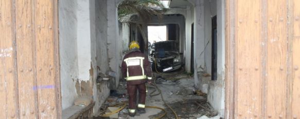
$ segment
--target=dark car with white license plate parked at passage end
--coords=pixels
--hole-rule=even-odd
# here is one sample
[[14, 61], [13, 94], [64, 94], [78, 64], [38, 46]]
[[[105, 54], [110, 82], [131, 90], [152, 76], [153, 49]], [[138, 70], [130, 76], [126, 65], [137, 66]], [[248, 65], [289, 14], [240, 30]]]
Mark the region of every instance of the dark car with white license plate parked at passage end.
[[[177, 41], [161, 41], [154, 43], [152, 56], [152, 70], [158, 72], [171, 72], [182, 66], [179, 43]], [[156, 66], [155, 66], [156, 65]]]

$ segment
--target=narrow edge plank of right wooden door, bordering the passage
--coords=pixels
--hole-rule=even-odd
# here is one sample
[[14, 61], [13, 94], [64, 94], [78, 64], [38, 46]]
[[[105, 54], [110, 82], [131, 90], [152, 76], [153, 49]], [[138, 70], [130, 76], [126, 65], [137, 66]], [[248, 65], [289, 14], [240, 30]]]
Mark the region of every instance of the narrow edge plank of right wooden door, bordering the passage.
[[235, 0], [225, 0], [225, 118], [235, 118]]

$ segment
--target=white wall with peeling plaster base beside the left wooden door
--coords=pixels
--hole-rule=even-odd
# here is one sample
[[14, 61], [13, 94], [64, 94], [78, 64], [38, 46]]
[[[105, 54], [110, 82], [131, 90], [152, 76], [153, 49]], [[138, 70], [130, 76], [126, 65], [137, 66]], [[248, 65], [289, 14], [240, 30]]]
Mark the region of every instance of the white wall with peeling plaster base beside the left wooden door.
[[91, 25], [95, 21], [90, 18], [94, 19], [90, 2], [59, 1], [62, 109], [74, 105], [79, 96], [93, 96], [95, 30]]

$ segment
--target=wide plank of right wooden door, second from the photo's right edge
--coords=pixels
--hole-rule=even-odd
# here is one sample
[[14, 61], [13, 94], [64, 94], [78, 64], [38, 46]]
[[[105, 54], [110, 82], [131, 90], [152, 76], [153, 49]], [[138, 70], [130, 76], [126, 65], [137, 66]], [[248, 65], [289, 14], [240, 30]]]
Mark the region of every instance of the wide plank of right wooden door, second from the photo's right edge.
[[287, 1], [267, 1], [266, 114], [264, 118], [286, 117], [287, 94]]

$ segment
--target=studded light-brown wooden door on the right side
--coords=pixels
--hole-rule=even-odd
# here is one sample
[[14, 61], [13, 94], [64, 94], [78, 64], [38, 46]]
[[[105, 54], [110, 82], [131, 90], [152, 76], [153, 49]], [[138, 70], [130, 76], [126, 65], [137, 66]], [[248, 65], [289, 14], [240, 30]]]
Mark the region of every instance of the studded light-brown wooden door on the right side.
[[300, 118], [300, 1], [226, 1], [226, 118]]

